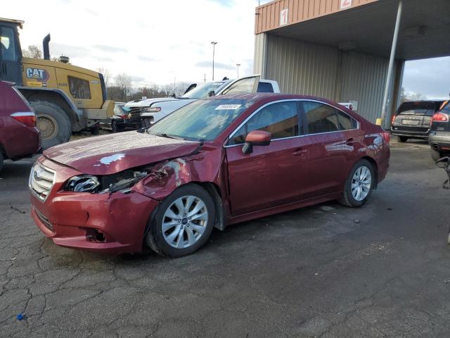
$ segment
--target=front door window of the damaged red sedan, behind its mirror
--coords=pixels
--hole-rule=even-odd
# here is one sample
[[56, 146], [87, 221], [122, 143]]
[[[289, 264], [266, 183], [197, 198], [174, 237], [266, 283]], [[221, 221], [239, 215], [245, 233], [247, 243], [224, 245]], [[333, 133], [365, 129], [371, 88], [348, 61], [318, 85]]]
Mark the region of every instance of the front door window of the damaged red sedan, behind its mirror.
[[233, 134], [231, 144], [243, 144], [252, 130], [264, 130], [272, 134], [272, 139], [294, 137], [299, 134], [297, 101], [269, 104], [258, 111], [243, 127]]

